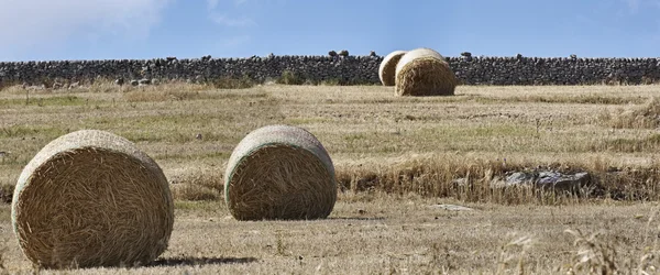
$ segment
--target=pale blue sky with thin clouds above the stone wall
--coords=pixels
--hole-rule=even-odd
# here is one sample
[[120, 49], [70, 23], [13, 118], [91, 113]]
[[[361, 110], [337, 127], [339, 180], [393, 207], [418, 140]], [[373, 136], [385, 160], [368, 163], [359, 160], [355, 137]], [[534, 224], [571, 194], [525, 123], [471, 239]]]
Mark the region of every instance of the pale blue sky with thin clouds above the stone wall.
[[324, 55], [660, 57], [660, 0], [0, 0], [0, 62]]

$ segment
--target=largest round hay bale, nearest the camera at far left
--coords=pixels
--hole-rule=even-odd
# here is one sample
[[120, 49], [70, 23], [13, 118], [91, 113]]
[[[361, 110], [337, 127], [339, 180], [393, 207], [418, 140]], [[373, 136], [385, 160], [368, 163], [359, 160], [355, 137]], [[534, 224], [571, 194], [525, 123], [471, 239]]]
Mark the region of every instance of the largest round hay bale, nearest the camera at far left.
[[167, 248], [174, 223], [161, 167], [98, 130], [45, 145], [21, 173], [11, 211], [21, 250], [45, 268], [147, 264]]

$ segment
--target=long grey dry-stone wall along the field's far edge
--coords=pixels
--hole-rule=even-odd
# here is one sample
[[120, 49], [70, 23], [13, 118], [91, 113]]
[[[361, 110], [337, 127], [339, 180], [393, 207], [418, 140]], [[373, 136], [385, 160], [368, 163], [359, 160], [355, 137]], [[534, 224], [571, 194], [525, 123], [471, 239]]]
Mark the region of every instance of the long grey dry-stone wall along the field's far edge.
[[[283, 72], [312, 81], [378, 84], [381, 56], [268, 56], [250, 58], [123, 59], [0, 63], [2, 84], [41, 85], [58, 79], [179, 79], [218, 77], [276, 79]], [[660, 80], [660, 58], [447, 57], [468, 85], [591, 85], [610, 81], [649, 84]]]

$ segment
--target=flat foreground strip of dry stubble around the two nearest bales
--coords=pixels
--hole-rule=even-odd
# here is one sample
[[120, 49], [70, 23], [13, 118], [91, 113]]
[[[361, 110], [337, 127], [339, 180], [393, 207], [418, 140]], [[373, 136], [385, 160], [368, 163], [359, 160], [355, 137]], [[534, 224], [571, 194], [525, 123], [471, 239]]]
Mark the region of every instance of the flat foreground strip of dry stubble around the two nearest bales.
[[[657, 204], [438, 204], [455, 201], [348, 193], [327, 220], [242, 222], [223, 204], [179, 202], [169, 249], [151, 266], [66, 274], [653, 274], [660, 264]], [[32, 270], [13, 242], [3, 261]]]

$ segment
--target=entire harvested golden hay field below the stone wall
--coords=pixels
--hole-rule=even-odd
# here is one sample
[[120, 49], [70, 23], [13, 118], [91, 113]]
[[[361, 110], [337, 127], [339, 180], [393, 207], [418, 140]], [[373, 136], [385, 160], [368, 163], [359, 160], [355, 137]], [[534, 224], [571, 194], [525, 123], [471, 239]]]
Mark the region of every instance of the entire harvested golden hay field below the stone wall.
[[[31, 92], [28, 103], [10, 88], [0, 91], [0, 184], [15, 185], [57, 136], [99, 129], [133, 141], [185, 189], [156, 261], [68, 274], [652, 274], [658, 87], [459, 86], [453, 97], [397, 97], [375, 86], [107, 85]], [[221, 180], [231, 153], [272, 124], [309, 130], [332, 158], [338, 197], [327, 219], [231, 216]], [[597, 185], [578, 194], [491, 189], [541, 168], [585, 172]], [[34, 272], [9, 230], [9, 205], [0, 205], [0, 228], [2, 267]]]

